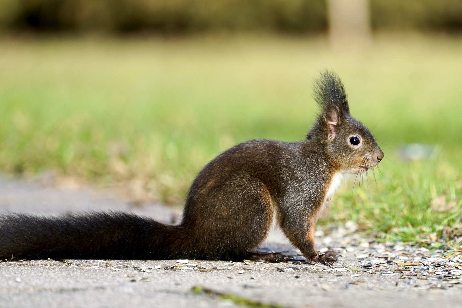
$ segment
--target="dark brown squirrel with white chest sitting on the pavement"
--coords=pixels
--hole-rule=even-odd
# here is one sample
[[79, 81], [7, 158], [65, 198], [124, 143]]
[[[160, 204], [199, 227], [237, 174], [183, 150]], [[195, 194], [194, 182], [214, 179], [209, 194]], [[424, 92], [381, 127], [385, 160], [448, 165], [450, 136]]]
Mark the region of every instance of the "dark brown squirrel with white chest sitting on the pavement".
[[165, 225], [123, 212], [47, 217], [0, 217], [0, 259], [205, 259], [286, 262], [258, 254], [273, 218], [310, 261], [319, 254], [314, 231], [320, 211], [344, 173], [377, 166], [383, 152], [371, 132], [350, 115], [334, 72], [314, 82], [321, 112], [306, 140], [251, 140], [221, 153], [195, 178], [182, 223]]

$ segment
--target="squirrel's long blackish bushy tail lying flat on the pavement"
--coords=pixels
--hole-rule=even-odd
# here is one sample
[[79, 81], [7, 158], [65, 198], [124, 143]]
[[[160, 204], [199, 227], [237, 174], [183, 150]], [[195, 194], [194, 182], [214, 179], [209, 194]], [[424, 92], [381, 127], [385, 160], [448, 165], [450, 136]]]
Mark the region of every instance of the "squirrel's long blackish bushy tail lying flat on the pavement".
[[138, 259], [170, 257], [180, 227], [122, 212], [60, 217], [0, 217], [0, 259]]

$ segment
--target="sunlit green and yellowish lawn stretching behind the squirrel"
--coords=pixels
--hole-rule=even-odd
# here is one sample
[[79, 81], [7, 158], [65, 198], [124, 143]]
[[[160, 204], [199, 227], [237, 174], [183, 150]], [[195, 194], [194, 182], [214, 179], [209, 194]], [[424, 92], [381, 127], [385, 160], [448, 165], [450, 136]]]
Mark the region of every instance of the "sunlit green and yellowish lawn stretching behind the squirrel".
[[[414, 242], [460, 224], [458, 36], [381, 35], [360, 52], [333, 50], [323, 37], [4, 36], [0, 169], [54, 170], [182, 203], [220, 151], [253, 138], [303, 139], [316, 113], [311, 82], [323, 68], [340, 74], [352, 114], [373, 128], [387, 159], [360, 191], [359, 181], [342, 187], [321, 223], [358, 221], [384, 241]], [[441, 154], [400, 160], [395, 150], [414, 142]], [[456, 206], [433, 211], [443, 194]]]

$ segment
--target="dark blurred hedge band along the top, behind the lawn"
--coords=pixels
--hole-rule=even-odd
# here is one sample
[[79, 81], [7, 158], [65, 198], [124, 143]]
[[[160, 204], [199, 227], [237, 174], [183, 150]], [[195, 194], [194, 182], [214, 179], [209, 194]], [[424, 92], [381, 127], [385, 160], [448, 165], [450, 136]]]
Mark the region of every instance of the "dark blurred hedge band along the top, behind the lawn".
[[[326, 0], [0, 0], [12, 30], [327, 29]], [[371, 0], [373, 29], [461, 30], [462, 0]]]

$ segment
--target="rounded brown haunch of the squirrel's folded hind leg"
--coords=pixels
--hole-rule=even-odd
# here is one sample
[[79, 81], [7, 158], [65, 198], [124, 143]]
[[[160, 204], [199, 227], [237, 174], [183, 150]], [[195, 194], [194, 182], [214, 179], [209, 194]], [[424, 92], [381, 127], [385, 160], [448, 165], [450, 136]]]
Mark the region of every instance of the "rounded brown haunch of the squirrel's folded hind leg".
[[245, 174], [214, 187], [213, 194], [197, 188], [185, 211], [185, 256], [239, 262], [265, 240], [274, 214], [267, 187]]

